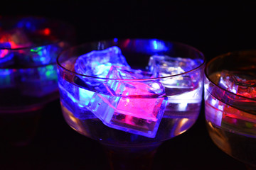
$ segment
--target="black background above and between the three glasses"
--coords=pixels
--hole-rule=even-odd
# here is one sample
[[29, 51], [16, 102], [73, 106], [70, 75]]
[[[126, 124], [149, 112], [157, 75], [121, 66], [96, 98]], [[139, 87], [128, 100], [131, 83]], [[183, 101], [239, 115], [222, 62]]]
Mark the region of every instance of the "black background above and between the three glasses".
[[[207, 60], [256, 47], [256, 1], [1, 1], [0, 6], [1, 16], [44, 16], [70, 23], [77, 44], [159, 38], [196, 47]], [[203, 116], [202, 109], [190, 130], [159, 147], [154, 169], [245, 169], [213, 145]], [[65, 123], [58, 101], [45, 108], [31, 145], [1, 144], [0, 149], [0, 169], [108, 169], [102, 147]]]

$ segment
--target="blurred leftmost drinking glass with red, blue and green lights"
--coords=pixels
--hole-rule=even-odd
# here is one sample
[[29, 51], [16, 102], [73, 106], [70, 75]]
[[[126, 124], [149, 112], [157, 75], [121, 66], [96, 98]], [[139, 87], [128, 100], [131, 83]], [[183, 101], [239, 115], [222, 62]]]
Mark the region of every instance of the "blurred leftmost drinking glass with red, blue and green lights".
[[47, 103], [56, 100], [56, 58], [73, 42], [72, 26], [34, 16], [0, 18], [0, 134], [28, 145]]

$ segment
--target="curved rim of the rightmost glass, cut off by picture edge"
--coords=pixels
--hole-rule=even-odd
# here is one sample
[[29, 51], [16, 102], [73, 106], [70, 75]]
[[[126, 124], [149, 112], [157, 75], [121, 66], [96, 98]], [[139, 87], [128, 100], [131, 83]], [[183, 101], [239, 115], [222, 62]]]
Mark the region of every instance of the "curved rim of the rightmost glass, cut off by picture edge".
[[217, 87], [218, 89], [221, 89], [221, 90], [225, 91], [225, 93], [227, 93], [227, 94], [232, 94], [232, 95], [238, 96], [238, 97], [240, 97], [240, 98], [245, 98], [245, 99], [250, 100], [250, 101], [256, 101], [256, 98], [248, 98], [248, 97], [246, 97], [246, 96], [241, 96], [241, 95], [239, 95], [239, 94], [235, 94], [235, 93], [233, 93], [233, 92], [231, 92], [231, 91], [228, 91], [228, 90], [226, 90], [226, 89], [223, 89], [222, 87], [218, 86], [218, 84], [215, 84], [215, 83], [209, 78], [209, 76], [208, 76], [208, 74], [207, 74], [207, 68], [209, 67], [209, 65], [212, 64], [215, 60], [218, 60], [220, 57], [230, 56], [230, 55], [232, 55], [232, 54], [234, 54], [234, 53], [236, 53], [236, 52], [253, 52], [253, 51], [256, 52], [256, 50], [233, 51], [233, 52], [226, 52], [226, 53], [224, 53], [224, 54], [222, 54], [222, 55], [218, 55], [218, 56], [216, 56], [216, 57], [213, 57], [213, 59], [211, 59], [211, 60], [209, 60], [208, 62], [206, 62], [206, 67], [205, 67], [205, 69], [204, 69], [204, 74], [205, 74], [205, 76], [206, 76], [206, 79], [208, 79], [208, 81], [210, 81], [210, 83], [213, 84], [213, 86]]

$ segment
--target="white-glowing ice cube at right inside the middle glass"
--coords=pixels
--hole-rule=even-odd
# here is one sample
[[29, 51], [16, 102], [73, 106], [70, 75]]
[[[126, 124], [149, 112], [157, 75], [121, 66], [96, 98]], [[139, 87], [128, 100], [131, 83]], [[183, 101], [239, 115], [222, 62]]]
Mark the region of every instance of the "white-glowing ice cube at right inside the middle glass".
[[188, 71], [195, 69], [202, 63], [203, 60], [166, 55], [150, 57], [148, 69], [153, 77], [165, 77], [161, 78], [161, 84], [165, 88], [166, 96], [168, 96], [169, 107], [175, 107], [178, 111], [186, 111], [188, 103], [201, 102], [200, 94], [202, 94], [201, 86], [203, 84], [198, 79], [202, 73], [199, 70]]

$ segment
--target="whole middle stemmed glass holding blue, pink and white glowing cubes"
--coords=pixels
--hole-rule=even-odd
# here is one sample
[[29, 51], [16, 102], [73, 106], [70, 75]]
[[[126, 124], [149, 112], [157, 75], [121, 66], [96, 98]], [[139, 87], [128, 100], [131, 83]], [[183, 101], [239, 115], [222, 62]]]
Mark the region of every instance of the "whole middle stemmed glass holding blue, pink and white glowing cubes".
[[[114, 74], [115, 67], [108, 71], [108, 65], [99, 71], [107, 70], [110, 75], [107, 78], [76, 71], [80, 56], [110, 47], [121, 49], [131, 67], [126, 70], [128, 73]], [[181, 67], [168, 67], [164, 63], [168, 64], [166, 55], [187, 61], [186, 72], [168, 75]], [[163, 72], [169, 70], [165, 77], [150, 78], [151, 73], [145, 72], [150, 69], [152, 56], [161, 58], [157, 62], [163, 62]], [[57, 63], [60, 104], [66, 122], [104, 146], [111, 169], [151, 169], [157, 147], [191, 128], [198, 118], [205, 59], [188, 45], [156, 39], [114, 38], [65, 50]], [[156, 64], [151, 60], [152, 63]], [[127, 78], [132, 74], [137, 79]]]

